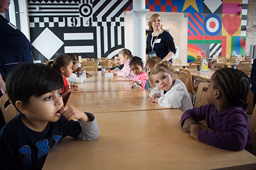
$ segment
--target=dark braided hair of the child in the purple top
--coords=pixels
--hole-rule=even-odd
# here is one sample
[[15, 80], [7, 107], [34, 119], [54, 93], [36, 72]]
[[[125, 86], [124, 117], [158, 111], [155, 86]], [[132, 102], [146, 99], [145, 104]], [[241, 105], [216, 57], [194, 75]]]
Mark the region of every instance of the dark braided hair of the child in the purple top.
[[250, 80], [246, 73], [238, 69], [224, 68], [213, 73], [211, 80], [215, 84], [213, 88], [221, 90], [227, 101], [246, 110], [250, 89]]

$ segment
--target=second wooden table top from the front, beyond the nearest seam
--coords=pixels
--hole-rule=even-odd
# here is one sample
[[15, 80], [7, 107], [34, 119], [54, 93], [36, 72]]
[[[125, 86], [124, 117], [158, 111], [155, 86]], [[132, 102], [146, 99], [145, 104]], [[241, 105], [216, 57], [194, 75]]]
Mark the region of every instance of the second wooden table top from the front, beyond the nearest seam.
[[145, 89], [71, 93], [68, 104], [92, 113], [167, 109], [149, 102], [149, 91]]

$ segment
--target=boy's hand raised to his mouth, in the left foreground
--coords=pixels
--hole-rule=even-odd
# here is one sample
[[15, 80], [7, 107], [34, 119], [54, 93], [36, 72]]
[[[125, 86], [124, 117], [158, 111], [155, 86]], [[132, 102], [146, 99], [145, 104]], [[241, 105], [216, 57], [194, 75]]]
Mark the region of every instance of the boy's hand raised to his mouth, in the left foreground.
[[80, 121], [91, 121], [88, 116], [82, 112], [81, 110], [77, 109], [74, 106], [71, 105], [66, 105], [60, 109], [60, 114], [62, 114], [68, 121], [73, 120], [76, 118], [77, 120]]

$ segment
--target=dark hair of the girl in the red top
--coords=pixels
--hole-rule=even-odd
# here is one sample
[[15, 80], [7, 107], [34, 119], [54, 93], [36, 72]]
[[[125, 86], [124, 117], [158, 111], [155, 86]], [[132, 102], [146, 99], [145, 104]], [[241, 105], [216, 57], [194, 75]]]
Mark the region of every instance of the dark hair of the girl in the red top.
[[53, 61], [49, 61], [47, 65], [57, 70], [57, 72], [62, 73], [60, 68], [68, 66], [70, 61], [73, 62], [73, 60], [68, 55], [59, 55], [54, 58]]

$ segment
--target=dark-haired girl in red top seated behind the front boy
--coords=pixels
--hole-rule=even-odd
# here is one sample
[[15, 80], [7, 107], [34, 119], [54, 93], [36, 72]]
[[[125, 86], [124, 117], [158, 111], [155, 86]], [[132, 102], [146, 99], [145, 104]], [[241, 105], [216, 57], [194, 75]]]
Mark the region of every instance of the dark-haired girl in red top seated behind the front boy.
[[78, 86], [76, 84], [69, 85], [66, 77], [70, 77], [73, 72], [73, 60], [68, 55], [59, 55], [53, 61], [49, 61], [48, 66], [55, 69], [57, 72], [62, 75], [64, 87], [62, 89], [62, 97], [64, 104], [68, 101], [71, 91], [77, 91]]

